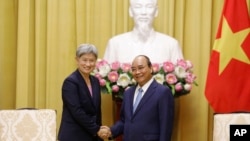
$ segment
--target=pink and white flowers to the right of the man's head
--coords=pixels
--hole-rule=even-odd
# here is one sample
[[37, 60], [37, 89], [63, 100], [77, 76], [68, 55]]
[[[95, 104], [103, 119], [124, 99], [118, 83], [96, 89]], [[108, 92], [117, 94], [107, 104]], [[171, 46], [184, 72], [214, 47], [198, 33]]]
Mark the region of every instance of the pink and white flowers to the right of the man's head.
[[198, 86], [195, 82], [196, 75], [193, 74], [193, 64], [189, 60], [180, 59], [176, 64], [166, 61], [161, 65], [153, 63], [153, 72], [155, 80], [168, 86], [174, 97], [179, 97], [190, 93], [192, 84]]

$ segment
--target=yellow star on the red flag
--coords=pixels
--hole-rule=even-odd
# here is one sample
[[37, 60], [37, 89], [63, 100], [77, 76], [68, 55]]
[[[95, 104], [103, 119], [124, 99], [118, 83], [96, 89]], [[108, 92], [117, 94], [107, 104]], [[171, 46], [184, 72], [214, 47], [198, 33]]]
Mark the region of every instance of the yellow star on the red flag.
[[250, 28], [233, 33], [227, 20], [223, 17], [221, 38], [216, 39], [213, 49], [220, 53], [219, 74], [223, 72], [232, 58], [250, 64], [250, 60], [241, 45], [250, 32]]

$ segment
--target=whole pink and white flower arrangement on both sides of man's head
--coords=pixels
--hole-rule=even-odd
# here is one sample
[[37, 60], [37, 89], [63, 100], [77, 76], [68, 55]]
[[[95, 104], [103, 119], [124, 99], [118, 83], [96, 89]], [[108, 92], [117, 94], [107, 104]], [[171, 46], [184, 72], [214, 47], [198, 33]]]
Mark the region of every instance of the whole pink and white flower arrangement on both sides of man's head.
[[[193, 64], [188, 60], [178, 60], [176, 64], [166, 61], [162, 64], [153, 63], [155, 80], [168, 86], [174, 97], [190, 93], [196, 76], [193, 74]], [[113, 98], [123, 98], [123, 92], [136, 82], [132, 77], [131, 64], [113, 62], [109, 64], [105, 60], [98, 59], [93, 72], [101, 85], [102, 93], [113, 94]]]

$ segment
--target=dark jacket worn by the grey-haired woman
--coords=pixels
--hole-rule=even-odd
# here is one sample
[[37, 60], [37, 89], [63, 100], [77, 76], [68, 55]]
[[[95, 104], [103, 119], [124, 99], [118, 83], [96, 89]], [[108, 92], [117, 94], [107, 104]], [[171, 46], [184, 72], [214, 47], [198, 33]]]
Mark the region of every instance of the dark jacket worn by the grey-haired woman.
[[98, 141], [101, 125], [101, 90], [99, 81], [90, 76], [93, 97], [78, 70], [62, 86], [63, 112], [58, 138], [60, 141]]

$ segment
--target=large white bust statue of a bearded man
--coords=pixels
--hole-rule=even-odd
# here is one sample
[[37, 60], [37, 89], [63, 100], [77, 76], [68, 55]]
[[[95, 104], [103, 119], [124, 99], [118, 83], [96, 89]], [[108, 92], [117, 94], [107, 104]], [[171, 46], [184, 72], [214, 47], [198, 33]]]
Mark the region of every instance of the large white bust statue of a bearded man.
[[146, 55], [153, 63], [175, 63], [183, 58], [178, 41], [153, 28], [154, 18], [158, 15], [157, 0], [130, 0], [129, 15], [134, 20], [133, 30], [108, 41], [105, 60], [131, 63], [137, 55]]

